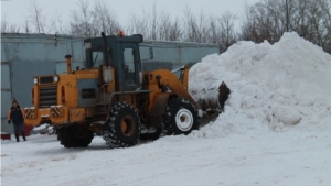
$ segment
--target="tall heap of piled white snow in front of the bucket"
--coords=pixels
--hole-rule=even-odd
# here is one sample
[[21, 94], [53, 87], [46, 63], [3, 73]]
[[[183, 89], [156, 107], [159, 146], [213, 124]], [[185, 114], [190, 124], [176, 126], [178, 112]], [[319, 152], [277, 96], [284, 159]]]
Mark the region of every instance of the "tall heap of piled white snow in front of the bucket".
[[331, 55], [297, 33], [285, 33], [274, 45], [239, 42], [190, 70], [190, 91], [218, 87], [222, 81], [232, 90], [225, 112], [193, 136], [256, 134], [292, 125], [330, 130]]

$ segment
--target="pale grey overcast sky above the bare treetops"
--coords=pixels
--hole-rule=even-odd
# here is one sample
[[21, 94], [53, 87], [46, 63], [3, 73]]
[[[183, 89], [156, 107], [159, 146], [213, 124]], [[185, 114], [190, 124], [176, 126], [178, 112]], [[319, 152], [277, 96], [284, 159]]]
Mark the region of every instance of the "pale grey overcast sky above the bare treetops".
[[[6, 17], [11, 24], [24, 23], [29, 15], [28, 7], [31, 0], [1, 0], [1, 19]], [[47, 19], [60, 15], [64, 21], [71, 17], [79, 0], [35, 0], [43, 9]], [[226, 11], [235, 13], [239, 19], [244, 15], [245, 3], [254, 4], [259, 0], [105, 0], [116, 12], [121, 23], [127, 23], [132, 14], [139, 14], [143, 9], [150, 10], [153, 4], [157, 10], [163, 10], [170, 14], [182, 17], [183, 9], [188, 4], [193, 13], [200, 14], [201, 10], [206, 14], [218, 15]], [[90, 6], [94, 1], [89, 0]], [[238, 24], [238, 22], [237, 22]]]

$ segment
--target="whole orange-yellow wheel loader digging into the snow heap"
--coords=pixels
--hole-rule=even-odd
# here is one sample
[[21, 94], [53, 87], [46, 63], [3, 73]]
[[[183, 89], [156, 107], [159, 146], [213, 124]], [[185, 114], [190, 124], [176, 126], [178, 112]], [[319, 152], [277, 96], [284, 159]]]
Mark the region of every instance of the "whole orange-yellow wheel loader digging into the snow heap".
[[[188, 91], [189, 67], [178, 69], [180, 78], [167, 69], [141, 72], [142, 35], [102, 35], [84, 41], [85, 68], [72, 70], [66, 55], [67, 74], [33, 78], [26, 124], [50, 123], [65, 147], [88, 146], [95, 134], [109, 147], [126, 147], [161, 132], [189, 134], [199, 128], [200, 106]], [[221, 87], [223, 95], [216, 97], [227, 98], [228, 88]]]

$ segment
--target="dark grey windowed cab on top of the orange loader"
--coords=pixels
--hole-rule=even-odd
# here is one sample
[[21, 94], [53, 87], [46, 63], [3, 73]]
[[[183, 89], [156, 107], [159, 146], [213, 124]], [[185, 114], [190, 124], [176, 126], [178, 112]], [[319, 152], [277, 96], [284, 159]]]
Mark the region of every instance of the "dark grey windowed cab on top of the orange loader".
[[110, 66], [115, 70], [115, 90], [129, 91], [141, 86], [139, 43], [142, 35], [110, 35], [84, 41], [86, 69]]

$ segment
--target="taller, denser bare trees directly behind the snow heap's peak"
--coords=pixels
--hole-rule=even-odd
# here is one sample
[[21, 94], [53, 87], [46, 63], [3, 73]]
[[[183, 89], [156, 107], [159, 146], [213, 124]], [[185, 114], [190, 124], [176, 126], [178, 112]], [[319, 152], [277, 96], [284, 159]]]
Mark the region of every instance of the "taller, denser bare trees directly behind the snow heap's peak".
[[241, 37], [275, 43], [284, 32], [296, 31], [330, 52], [330, 0], [261, 0], [246, 7]]

